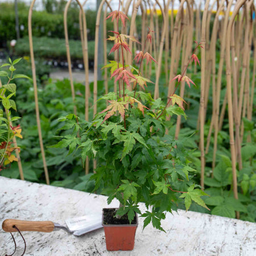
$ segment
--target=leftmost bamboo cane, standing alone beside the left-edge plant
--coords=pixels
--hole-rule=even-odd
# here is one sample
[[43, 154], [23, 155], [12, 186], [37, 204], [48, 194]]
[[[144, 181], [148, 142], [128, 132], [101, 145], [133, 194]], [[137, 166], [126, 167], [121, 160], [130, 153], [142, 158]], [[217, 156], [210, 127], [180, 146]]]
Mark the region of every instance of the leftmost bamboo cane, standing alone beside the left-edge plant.
[[30, 57], [31, 57], [31, 69], [32, 69], [32, 77], [33, 77], [33, 85], [34, 85], [34, 96], [35, 96], [35, 110], [36, 110], [36, 123], [38, 125], [38, 136], [40, 149], [42, 153], [43, 166], [44, 166], [44, 174], [46, 176], [46, 184], [49, 185], [49, 175], [46, 164], [46, 156], [44, 155], [44, 145], [41, 131], [41, 123], [40, 123], [40, 113], [39, 113], [39, 105], [38, 105], [38, 86], [36, 84], [36, 69], [35, 69], [35, 58], [34, 58], [34, 50], [33, 50], [33, 41], [32, 41], [32, 11], [36, 0], [33, 0], [30, 5], [30, 10], [28, 12], [28, 40], [30, 43]]

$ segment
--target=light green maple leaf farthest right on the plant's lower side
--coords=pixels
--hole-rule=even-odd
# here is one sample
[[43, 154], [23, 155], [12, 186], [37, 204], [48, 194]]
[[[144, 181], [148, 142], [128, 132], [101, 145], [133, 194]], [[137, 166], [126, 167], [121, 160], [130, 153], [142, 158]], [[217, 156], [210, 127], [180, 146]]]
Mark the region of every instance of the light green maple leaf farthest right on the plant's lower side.
[[208, 196], [207, 193], [205, 193], [204, 191], [201, 191], [200, 189], [195, 189], [195, 185], [191, 185], [188, 188], [188, 192], [187, 193], [183, 193], [180, 197], [185, 197], [185, 201], [186, 201], [186, 210], [189, 209], [190, 205], [191, 205], [191, 200], [195, 201], [195, 203], [201, 205], [201, 207], [207, 208], [209, 210], [209, 208], [207, 207], [207, 205], [205, 205], [203, 199], [201, 199], [200, 196]]

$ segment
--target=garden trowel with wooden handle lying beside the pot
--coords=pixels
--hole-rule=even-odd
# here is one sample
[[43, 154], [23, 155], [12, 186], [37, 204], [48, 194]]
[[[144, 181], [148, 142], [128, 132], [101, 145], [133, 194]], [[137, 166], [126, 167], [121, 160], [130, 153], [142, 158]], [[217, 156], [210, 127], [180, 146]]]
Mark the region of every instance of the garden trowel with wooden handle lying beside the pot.
[[16, 232], [18, 230], [52, 232], [63, 229], [74, 236], [81, 236], [92, 230], [102, 228], [101, 221], [102, 214], [90, 214], [82, 217], [69, 218], [65, 220], [64, 225], [52, 221], [23, 221], [9, 218], [3, 221], [2, 229], [5, 230], [5, 232]]

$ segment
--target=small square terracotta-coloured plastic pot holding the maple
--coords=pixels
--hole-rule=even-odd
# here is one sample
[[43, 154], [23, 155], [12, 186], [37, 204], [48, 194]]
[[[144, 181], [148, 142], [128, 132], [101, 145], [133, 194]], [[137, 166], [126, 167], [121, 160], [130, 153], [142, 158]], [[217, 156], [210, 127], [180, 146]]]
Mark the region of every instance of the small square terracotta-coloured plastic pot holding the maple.
[[[115, 208], [109, 208], [115, 209]], [[102, 210], [102, 226], [104, 226], [106, 249], [108, 251], [131, 251], [134, 248], [135, 232], [138, 226], [136, 213], [136, 224], [128, 225], [105, 225], [103, 223], [104, 209]]]

